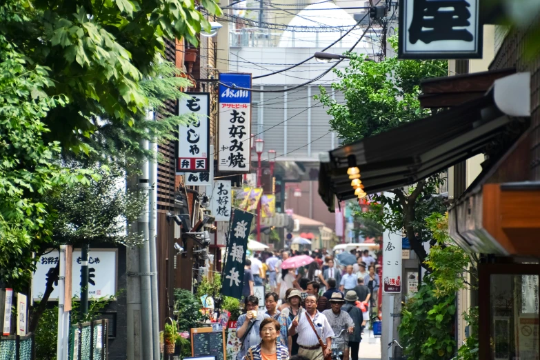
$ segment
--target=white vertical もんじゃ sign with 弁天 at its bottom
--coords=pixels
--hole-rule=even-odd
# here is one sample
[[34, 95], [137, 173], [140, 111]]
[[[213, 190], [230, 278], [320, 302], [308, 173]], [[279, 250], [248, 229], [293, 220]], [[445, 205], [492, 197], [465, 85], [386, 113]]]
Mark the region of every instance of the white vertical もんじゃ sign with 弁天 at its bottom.
[[178, 114], [192, 114], [178, 129], [177, 174], [210, 170], [210, 93], [186, 92], [179, 99]]

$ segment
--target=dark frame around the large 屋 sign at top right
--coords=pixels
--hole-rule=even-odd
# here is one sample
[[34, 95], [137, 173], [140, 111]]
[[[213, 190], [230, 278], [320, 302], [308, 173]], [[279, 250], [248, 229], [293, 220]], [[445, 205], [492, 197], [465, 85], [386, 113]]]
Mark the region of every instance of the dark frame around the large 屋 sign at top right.
[[[473, 51], [470, 50], [407, 50], [406, 41], [408, 41], [407, 32], [409, 31], [408, 14], [406, 14], [408, 7], [414, 8], [414, 1], [417, 0], [399, 0], [399, 28], [398, 28], [398, 59], [481, 59], [482, 47], [483, 47], [483, 24], [480, 19], [480, 0], [467, 0], [474, 2], [476, 5], [476, 13], [472, 14], [472, 17], [476, 16], [475, 33], [473, 35], [472, 42], [476, 44]], [[414, 11], [414, 10], [413, 10]], [[444, 46], [441, 46], [444, 47]], [[448, 48], [448, 47], [447, 47]]]

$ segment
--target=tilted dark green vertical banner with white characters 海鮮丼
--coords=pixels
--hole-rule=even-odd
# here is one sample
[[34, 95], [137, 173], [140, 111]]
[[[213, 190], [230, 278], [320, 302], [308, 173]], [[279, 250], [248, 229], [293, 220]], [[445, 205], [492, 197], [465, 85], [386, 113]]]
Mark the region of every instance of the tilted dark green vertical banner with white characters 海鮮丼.
[[229, 230], [223, 287], [221, 294], [240, 299], [243, 288], [243, 266], [246, 263], [248, 236], [253, 215], [242, 210], [234, 210]]

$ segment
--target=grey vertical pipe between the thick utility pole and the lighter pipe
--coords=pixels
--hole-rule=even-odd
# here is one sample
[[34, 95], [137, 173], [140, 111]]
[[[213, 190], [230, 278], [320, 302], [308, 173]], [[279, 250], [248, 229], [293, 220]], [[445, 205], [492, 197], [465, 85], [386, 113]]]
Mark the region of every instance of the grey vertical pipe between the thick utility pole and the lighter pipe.
[[[148, 150], [148, 140], [141, 140], [139, 144], [143, 150]], [[139, 168], [138, 188], [141, 195], [148, 199], [148, 160], [141, 161]], [[137, 226], [139, 233], [143, 235], [143, 245], [139, 248], [139, 268], [141, 278], [141, 343], [143, 347], [143, 359], [152, 359], [154, 357], [152, 340], [152, 298], [150, 281], [150, 242], [148, 229], [148, 213], [150, 207], [148, 200], [145, 201], [141, 210]]]

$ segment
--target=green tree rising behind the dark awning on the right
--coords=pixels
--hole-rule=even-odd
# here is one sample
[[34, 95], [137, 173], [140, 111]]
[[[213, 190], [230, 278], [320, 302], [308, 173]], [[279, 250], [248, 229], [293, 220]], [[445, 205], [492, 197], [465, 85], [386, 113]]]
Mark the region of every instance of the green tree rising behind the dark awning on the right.
[[[397, 39], [390, 39], [394, 48]], [[418, 100], [420, 81], [445, 76], [446, 61], [398, 60], [365, 61], [365, 56], [349, 54], [350, 64], [335, 70], [339, 81], [332, 83], [333, 92], [341, 92], [345, 103], [332, 99], [332, 93], [321, 87], [317, 98], [332, 115], [330, 126], [343, 143], [352, 143], [428, 117]], [[407, 141], [407, 139], [403, 139]], [[390, 144], [389, 144], [390, 145]], [[432, 212], [444, 212], [442, 199], [434, 197], [443, 179], [438, 175], [422, 179], [408, 189], [394, 189], [388, 194], [370, 196], [370, 212], [360, 214], [377, 221], [384, 228], [401, 233], [404, 229], [414, 252], [426, 258], [423, 242], [430, 240], [424, 219]], [[384, 209], [384, 211], [383, 211]]]

